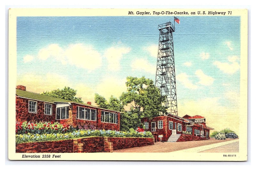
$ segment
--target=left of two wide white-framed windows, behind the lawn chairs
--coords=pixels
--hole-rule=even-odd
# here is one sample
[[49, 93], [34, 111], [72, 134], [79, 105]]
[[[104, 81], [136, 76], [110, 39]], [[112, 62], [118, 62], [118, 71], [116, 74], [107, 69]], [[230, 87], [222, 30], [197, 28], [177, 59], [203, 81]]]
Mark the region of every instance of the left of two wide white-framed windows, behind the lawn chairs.
[[96, 120], [96, 110], [76, 106], [76, 119]]

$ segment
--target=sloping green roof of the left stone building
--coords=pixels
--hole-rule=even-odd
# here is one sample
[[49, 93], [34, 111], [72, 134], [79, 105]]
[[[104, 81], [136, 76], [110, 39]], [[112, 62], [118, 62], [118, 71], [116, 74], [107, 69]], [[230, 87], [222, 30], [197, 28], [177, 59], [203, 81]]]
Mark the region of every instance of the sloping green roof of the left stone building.
[[[25, 91], [25, 90], [20, 90], [20, 89], [16, 89], [16, 95], [20, 96], [20, 97], [26, 97], [26, 98], [30, 98], [30, 99], [41, 100], [41, 101], [51, 102], [51, 103], [54, 103], [54, 102], [75, 102], [75, 101], [71, 101], [71, 100], [65, 100], [65, 99], [62, 99], [62, 98], [41, 95], [41, 94], [38, 94], [38, 93]], [[79, 103], [79, 102], [75, 102], [75, 103]], [[83, 103], [81, 103], [81, 104], [83, 104]]]

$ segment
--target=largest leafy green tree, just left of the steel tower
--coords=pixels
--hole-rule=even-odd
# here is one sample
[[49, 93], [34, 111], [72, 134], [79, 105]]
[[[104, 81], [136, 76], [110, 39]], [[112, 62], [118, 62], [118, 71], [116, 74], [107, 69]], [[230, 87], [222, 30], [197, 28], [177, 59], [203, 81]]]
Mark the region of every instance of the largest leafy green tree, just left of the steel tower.
[[139, 120], [158, 116], [160, 112], [166, 113], [167, 107], [162, 105], [165, 97], [161, 96], [152, 80], [145, 77], [127, 77], [126, 86], [127, 91], [122, 93], [120, 100], [124, 105], [132, 105], [130, 112], [136, 113]]

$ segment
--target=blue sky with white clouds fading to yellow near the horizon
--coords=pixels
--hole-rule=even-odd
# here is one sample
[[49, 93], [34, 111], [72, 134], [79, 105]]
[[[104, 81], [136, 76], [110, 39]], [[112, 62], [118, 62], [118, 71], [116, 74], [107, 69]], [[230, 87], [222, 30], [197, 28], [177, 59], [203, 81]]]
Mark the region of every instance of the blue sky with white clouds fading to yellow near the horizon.
[[[176, 17], [178, 112], [237, 112], [240, 17]], [[69, 86], [84, 102], [94, 93], [119, 97], [127, 76], [155, 81], [157, 26], [167, 21], [173, 17], [18, 17], [17, 84], [38, 93]]]

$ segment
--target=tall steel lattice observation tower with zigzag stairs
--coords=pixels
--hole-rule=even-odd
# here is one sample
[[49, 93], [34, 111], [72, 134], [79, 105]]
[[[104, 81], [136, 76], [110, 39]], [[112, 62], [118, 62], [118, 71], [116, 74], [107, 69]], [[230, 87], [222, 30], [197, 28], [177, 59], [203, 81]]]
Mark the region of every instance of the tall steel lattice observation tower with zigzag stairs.
[[168, 113], [178, 116], [172, 39], [175, 26], [167, 22], [158, 25], [158, 30], [160, 33], [155, 85], [161, 90], [161, 95], [166, 96], [164, 104], [169, 106]]

